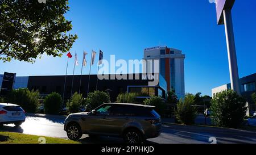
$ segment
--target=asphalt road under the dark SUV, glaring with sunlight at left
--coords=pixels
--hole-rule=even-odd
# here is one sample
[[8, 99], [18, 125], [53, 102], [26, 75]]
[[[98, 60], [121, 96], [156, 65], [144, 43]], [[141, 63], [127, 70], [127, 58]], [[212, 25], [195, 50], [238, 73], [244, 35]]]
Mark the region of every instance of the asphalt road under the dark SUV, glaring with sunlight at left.
[[[19, 132], [30, 135], [59, 137], [67, 139], [63, 130], [64, 119], [27, 117], [21, 127], [5, 125], [0, 131]], [[155, 138], [147, 140], [146, 143], [159, 144], [210, 144], [209, 139], [216, 143], [254, 143], [256, 144], [256, 132], [241, 131], [237, 129], [197, 127], [184, 125], [163, 125], [163, 133]], [[87, 135], [82, 136], [82, 143], [113, 144], [123, 143], [122, 139], [113, 137], [98, 137], [90, 139]]]

